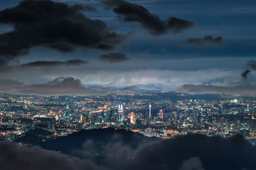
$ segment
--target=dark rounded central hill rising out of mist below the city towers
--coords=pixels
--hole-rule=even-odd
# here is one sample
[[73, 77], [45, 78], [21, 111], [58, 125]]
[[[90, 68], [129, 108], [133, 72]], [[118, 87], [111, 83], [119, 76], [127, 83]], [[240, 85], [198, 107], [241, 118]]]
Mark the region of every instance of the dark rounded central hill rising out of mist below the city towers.
[[107, 128], [74, 132], [68, 136], [46, 141], [38, 145], [47, 150], [56, 150], [70, 154], [74, 150], [81, 150], [86, 147], [86, 144], [84, 144], [86, 142], [93, 143], [95, 148], [100, 152], [100, 148], [109, 143], [121, 143], [122, 145], [136, 148], [143, 141], [161, 141], [161, 139], [150, 138], [138, 132], [126, 131], [124, 129], [115, 130], [113, 128]]

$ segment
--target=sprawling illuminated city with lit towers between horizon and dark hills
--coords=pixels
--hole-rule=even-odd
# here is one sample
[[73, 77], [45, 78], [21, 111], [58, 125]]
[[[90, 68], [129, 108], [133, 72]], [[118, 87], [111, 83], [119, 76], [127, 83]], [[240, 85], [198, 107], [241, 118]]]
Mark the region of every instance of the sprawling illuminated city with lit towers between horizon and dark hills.
[[172, 138], [202, 133], [256, 139], [256, 99], [141, 92], [109, 96], [0, 97], [0, 137], [15, 140], [33, 129], [45, 129], [49, 139], [81, 129], [115, 127], [145, 136]]

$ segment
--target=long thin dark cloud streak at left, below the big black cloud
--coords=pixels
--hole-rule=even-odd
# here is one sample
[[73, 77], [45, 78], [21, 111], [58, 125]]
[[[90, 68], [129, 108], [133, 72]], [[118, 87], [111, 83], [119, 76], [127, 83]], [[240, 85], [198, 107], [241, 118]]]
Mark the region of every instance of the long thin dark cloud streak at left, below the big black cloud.
[[27, 64], [22, 64], [21, 66], [26, 67], [44, 67], [44, 66], [81, 66], [87, 64], [85, 60], [67, 60], [67, 61], [47, 61], [47, 60], [37, 60], [35, 62], [29, 62]]

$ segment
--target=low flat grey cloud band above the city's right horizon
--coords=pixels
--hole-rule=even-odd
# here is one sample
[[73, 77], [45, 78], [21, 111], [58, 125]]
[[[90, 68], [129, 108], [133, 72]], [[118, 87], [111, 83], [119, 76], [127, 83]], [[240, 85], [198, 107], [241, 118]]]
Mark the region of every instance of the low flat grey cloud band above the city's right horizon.
[[232, 87], [216, 85], [182, 85], [178, 92], [192, 94], [230, 94], [241, 96], [253, 96], [256, 94], [256, 86], [237, 85]]

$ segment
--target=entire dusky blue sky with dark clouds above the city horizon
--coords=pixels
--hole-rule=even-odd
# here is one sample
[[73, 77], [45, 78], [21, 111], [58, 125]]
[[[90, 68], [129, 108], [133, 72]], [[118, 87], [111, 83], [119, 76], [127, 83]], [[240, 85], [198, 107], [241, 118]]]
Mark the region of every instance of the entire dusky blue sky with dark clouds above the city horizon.
[[1, 0], [0, 90], [255, 94], [255, 27], [250, 0]]

